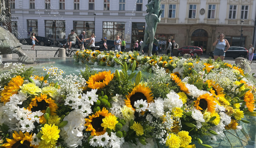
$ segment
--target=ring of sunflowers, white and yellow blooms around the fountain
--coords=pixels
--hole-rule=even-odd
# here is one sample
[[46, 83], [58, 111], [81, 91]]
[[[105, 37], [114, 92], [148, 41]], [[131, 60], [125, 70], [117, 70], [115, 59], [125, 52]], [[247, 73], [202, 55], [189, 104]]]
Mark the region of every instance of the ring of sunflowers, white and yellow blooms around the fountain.
[[[122, 70], [62, 76], [5, 64], [0, 75], [2, 147], [195, 147], [240, 130], [256, 116], [256, 81], [211, 59], [77, 51], [76, 58]], [[144, 77], [141, 71], [151, 73]], [[128, 74], [130, 71], [130, 74]]]

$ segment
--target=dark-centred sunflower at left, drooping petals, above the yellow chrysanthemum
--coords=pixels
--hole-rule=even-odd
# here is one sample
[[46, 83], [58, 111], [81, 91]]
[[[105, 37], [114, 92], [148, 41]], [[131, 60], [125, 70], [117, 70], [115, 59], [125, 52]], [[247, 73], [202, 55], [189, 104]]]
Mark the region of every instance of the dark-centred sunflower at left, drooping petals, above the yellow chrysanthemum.
[[[46, 108], [50, 107], [51, 115], [52, 116], [57, 115], [55, 112], [56, 112], [58, 106], [54, 102], [55, 102], [55, 100], [52, 100], [52, 98], [47, 99], [47, 95], [41, 93], [40, 97], [35, 96], [35, 98], [33, 98], [31, 100], [27, 109], [32, 112], [41, 110], [42, 113], [45, 113]], [[40, 123], [43, 124], [45, 122], [46, 122], [46, 119], [44, 118], [44, 115], [42, 115], [40, 117]]]

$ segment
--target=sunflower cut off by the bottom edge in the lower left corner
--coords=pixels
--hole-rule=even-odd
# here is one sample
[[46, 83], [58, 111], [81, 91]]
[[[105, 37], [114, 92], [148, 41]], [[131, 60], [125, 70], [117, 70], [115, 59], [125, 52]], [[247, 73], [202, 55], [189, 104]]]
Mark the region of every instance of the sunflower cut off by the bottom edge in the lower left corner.
[[2, 147], [6, 148], [37, 148], [38, 146], [32, 145], [30, 142], [32, 141], [32, 134], [29, 135], [28, 132], [25, 134], [22, 131], [16, 132], [12, 134], [13, 139], [6, 138], [8, 143], [2, 145]]

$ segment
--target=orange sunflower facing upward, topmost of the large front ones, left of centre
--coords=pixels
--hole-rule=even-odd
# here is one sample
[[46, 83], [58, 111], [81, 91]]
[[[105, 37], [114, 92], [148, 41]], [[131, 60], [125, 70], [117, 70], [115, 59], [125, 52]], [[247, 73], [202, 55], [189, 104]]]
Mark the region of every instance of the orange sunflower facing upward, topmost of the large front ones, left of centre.
[[114, 73], [111, 74], [111, 71], [103, 71], [99, 72], [98, 74], [91, 75], [86, 83], [91, 89], [101, 89], [108, 85], [113, 77]]

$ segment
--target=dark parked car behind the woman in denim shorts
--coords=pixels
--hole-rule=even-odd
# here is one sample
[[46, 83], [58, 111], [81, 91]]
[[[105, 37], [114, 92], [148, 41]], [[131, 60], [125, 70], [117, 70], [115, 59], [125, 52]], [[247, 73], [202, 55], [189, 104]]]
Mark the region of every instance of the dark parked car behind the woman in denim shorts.
[[[236, 59], [238, 57], [247, 57], [248, 50], [244, 47], [229, 47], [228, 50], [225, 53], [225, 57], [231, 57], [233, 59]], [[213, 57], [213, 51], [211, 51], [210, 56]]]

